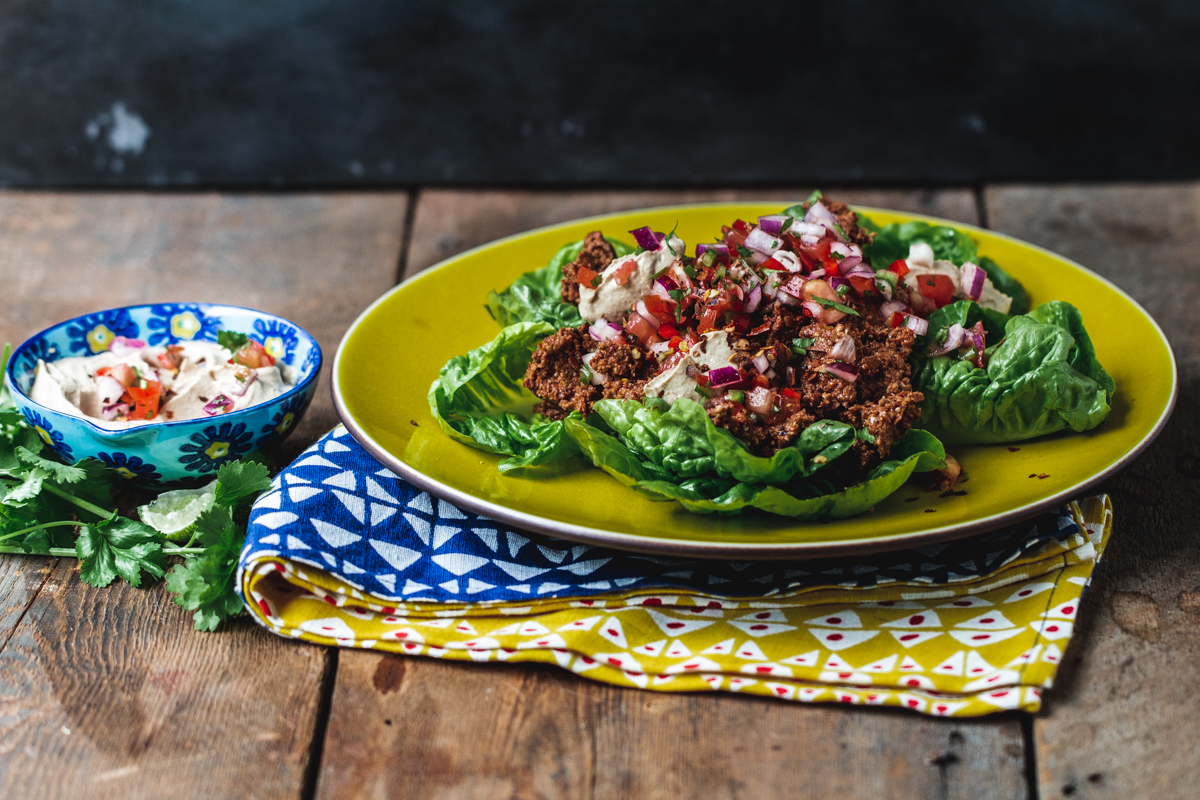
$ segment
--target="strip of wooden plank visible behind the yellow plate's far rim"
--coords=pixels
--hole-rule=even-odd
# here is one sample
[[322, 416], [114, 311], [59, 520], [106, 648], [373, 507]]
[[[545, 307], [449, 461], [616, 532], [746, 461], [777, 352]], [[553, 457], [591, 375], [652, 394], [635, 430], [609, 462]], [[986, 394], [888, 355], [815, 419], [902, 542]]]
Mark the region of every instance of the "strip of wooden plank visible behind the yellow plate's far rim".
[[[425, 190], [413, 223], [404, 277], [464, 249], [557, 222], [598, 213], [680, 203], [722, 200], [803, 200], [808, 188], [671, 191], [472, 191]], [[974, 223], [976, 200], [970, 190], [827, 190], [846, 203], [900, 209]]]

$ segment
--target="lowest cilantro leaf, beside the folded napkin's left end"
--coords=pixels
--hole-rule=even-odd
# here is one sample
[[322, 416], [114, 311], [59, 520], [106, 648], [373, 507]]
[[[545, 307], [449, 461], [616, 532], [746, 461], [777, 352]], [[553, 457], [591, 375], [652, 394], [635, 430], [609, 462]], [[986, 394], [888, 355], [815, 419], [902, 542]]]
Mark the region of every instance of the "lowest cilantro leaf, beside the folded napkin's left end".
[[[216, 516], [210, 522], [215, 519]], [[215, 531], [200, 555], [175, 565], [167, 576], [167, 591], [175, 595], [175, 604], [196, 612], [193, 624], [198, 631], [215, 631], [222, 619], [234, 616], [244, 608], [235, 577], [245, 534], [230, 517], [226, 519], [228, 524]]]

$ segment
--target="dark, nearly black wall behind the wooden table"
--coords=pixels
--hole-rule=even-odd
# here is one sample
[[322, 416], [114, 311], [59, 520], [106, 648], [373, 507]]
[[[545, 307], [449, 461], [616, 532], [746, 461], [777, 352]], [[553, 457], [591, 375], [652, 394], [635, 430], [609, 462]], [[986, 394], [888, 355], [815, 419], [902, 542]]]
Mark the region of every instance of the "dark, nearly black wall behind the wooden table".
[[1200, 176], [1200, 2], [0, 0], [0, 185]]

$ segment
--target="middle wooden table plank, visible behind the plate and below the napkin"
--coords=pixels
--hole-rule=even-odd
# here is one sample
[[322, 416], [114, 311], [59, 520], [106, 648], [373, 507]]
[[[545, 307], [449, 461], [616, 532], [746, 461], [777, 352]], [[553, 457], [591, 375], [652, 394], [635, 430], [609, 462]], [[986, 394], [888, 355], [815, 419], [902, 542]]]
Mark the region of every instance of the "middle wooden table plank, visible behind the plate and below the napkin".
[[[408, 273], [476, 243], [618, 209], [763, 192], [422, 192]], [[838, 192], [974, 222], [970, 191]], [[622, 690], [529, 667], [343, 650], [317, 783], [323, 799], [1022, 798], [1016, 717], [976, 722], [730, 694]], [[980, 780], [982, 777], [986, 780]]]

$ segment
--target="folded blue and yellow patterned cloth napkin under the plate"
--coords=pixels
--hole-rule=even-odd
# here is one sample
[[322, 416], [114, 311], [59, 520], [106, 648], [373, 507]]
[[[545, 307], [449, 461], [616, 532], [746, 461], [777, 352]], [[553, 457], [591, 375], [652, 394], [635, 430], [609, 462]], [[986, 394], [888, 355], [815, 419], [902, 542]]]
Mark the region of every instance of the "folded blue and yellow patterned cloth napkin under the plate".
[[1102, 495], [848, 559], [642, 555], [462, 511], [338, 426], [254, 504], [238, 584], [265, 627], [320, 644], [976, 716], [1040, 708], [1111, 519]]

